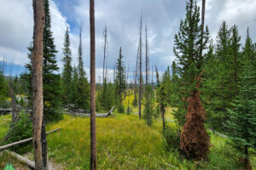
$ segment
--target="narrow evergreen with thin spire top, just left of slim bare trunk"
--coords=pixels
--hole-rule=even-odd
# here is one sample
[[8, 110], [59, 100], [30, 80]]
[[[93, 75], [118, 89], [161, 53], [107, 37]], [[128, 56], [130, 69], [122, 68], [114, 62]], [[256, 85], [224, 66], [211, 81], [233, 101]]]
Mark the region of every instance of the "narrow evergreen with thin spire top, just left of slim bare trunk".
[[84, 71], [84, 62], [83, 62], [83, 49], [82, 49], [82, 26], [80, 26], [80, 35], [79, 35], [79, 83], [78, 83], [78, 92], [77, 96], [77, 105], [79, 109], [89, 110], [90, 108], [90, 86], [86, 73]]

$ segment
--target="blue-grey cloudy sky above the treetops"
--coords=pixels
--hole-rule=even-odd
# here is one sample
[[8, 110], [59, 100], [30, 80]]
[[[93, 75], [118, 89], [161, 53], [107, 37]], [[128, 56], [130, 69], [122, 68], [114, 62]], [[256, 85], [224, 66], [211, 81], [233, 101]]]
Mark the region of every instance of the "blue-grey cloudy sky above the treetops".
[[[175, 59], [173, 37], [184, 18], [185, 3], [186, 0], [96, 0], [96, 78], [102, 75], [102, 31], [105, 24], [108, 26], [108, 72], [113, 72], [120, 46], [126, 66], [129, 64], [129, 70], [134, 71], [140, 14], [143, 14], [143, 24], [146, 20], [148, 23], [150, 65], [157, 65], [160, 71], [165, 71]], [[201, 5], [201, 0], [197, 3]], [[83, 59], [89, 74], [89, 0], [49, 0], [49, 4], [58, 65], [62, 67], [61, 48], [67, 26], [70, 28], [73, 62], [77, 62], [79, 23], [83, 22]], [[5, 58], [8, 66], [14, 63], [12, 74], [24, 71], [23, 65], [28, 62], [26, 54], [32, 42], [32, 12], [32, 0], [0, 0], [0, 60]], [[249, 26], [255, 42], [256, 0], [207, 0], [206, 24], [213, 39], [223, 20], [228, 26], [236, 24], [239, 27], [242, 44]], [[9, 74], [9, 67], [6, 74]]]

